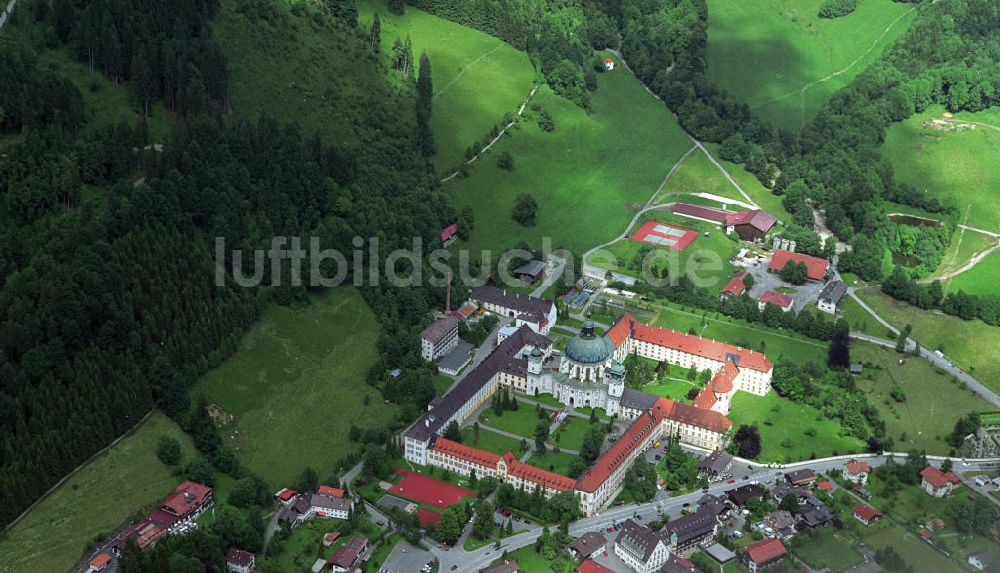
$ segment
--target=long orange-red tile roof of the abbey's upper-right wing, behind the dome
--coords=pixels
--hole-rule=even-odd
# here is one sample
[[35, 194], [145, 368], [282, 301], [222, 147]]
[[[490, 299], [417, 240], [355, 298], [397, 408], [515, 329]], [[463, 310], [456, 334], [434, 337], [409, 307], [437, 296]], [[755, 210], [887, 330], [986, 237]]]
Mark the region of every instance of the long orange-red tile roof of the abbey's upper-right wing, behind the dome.
[[725, 362], [726, 355], [732, 354], [739, 357], [738, 366], [740, 368], [749, 368], [758, 372], [768, 372], [774, 367], [774, 363], [760, 352], [678, 330], [648, 326], [629, 314], [622, 315], [618, 322], [608, 330], [607, 336], [616, 347], [620, 347], [625, 339], [631, 336], [635, 340], [672, 348], [718, 362]]

